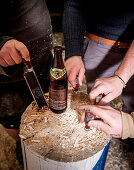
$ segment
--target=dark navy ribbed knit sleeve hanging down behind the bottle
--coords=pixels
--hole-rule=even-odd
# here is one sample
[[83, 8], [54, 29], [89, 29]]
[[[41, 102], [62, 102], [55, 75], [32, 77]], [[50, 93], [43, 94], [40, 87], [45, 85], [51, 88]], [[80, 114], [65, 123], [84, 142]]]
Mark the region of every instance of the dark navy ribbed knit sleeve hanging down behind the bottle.
[[66, 60], [71, 56], [83, 56], [85, 21], [81, 0], [64, 0], [63, 33]]

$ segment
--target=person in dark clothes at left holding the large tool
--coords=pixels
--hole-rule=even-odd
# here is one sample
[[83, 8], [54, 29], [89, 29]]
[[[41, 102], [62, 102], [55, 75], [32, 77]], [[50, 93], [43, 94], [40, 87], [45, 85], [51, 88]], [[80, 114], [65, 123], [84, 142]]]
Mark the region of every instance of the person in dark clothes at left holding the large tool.
[[21, 115], [33, 98], [18, 51], [31, 60], [43, 91], [48, 92], [52, 26], [45, 0], [2, 1], [0, 22], [0, 123], [19, 142]]

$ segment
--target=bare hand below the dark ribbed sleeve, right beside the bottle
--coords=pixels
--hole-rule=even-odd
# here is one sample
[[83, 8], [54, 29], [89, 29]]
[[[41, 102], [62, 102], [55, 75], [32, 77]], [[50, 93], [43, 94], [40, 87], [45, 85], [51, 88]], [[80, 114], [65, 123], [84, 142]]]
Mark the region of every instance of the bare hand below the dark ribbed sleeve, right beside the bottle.
[[72, 56], [65, 62], [68, 81], [75, 87], [76, 77], [78, 76], [79, 85], [82, 85], [85, 68], [81, 56]]

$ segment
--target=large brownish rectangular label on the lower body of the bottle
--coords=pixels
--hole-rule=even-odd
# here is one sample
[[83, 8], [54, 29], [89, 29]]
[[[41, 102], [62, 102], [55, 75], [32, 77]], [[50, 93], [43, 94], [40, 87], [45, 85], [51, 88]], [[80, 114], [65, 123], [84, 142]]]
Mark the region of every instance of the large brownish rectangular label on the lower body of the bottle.
[[50, 88], [50, 107], [55, 110], [66, 108], [66, 89], [54, 90]]

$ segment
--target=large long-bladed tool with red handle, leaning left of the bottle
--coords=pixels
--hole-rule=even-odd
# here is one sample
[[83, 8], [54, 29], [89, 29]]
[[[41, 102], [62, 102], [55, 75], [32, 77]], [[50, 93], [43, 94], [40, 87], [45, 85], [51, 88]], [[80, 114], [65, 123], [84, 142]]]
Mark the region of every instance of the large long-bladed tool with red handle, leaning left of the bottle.
[[39, 108], [42, 108], [43, 106], [47, 106], [47, 101], [45, 99], [45, 96], [43, 94], [43, 90], [40, 86], [40, 83], [37, 79], [36, 73], [31, 65], [31, 61], [26, 61], [20, 51], [18, 51], [20, 56], [22, 57], [22, 61], [25, 64], [26, 67], [24, 67], [24, 78], [26, 80], [26, 83], [30, 89], [30, 92], [37, 103]]

